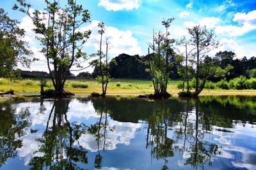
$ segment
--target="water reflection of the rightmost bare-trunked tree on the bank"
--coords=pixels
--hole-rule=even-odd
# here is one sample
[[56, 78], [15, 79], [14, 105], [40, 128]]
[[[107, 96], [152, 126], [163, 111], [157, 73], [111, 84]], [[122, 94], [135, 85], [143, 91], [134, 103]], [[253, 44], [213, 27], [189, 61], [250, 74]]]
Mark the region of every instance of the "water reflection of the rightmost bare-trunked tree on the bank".
[[[186, 111], [184, 111], [183, 123], [180, 126], [183, 129], [184, 142], [183, 146], [177, 146], [176, 149], [182, 153], [181, 155], [190, 155], [184, 162], [185, 165], [191, 165], [195, 168], [200, 166], [204, 169], [204, 164], [207, 162], [211, 166], [211, 159], [215, 156], [218, 146], [204, 141], [204, 135], [207, 133], [207, 129], [204, 129], [204, 127], [211, 129], [211, 125], [207, 124], [211, 121], [204, 120], [207, 117], [204, 117], [204, 113], [198, 111], [198, 105], [200, 105], [200, 101], [195, 101], [194, 110], [189, 111], [189, 101], [186, 101]], [[195, 122], [189, 122], [189, 112], [195, 114]], [[202, 122], [204, 122], [204, 125]]]

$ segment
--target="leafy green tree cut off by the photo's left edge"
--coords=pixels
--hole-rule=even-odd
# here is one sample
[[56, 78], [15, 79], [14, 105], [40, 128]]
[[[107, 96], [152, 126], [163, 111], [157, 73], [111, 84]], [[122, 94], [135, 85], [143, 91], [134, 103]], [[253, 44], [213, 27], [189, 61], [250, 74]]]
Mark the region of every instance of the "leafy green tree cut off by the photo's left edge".
[[19, 22], [8, 17], [0, 8], [0, 77], [13, 78], [17, 76], [15, 69], [18, 63], [29, 67], [31, 55], [28, 43], [22, 41], [25, 31], [19, 28]]

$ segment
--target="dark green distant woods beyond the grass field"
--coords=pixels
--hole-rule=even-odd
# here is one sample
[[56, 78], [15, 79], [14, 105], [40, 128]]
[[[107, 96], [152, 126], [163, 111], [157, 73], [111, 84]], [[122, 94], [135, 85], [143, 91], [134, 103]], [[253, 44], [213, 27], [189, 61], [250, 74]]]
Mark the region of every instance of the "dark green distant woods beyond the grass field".
[[[253, 77], [252, 74], [256, 70], [256, 57], [251, 57], [247, 59], [234, 59], [236, 54], [234, 52], [218, 52], [216, 53], [214, 60], [215, 63], [221, 66], [222, 68], [227, 67], [228, 64], [233, 66], [233, 69], [228, 75], [226, 75], [227, 80], [239, 77], [244, 75], [246, 77]], [[140, 79], [150, 79], [150, 73], [146, 70], [147, 66], [145, 65], [145, 59], [147, 56], [139, 55], [127, 55], [122, 53], [117, 57], [113, 58], [109, 63], [109, 74], [111, 78], [140, 78]], [[173, 59], [172, 74], [170, 78], [179, 79], [180, 76], [177, 73], [177, 67], [179, 64]], [[253, 72], [254, 71], [254, 72]], [[78, 76], [90, 76], [90, 73], [80, 73]], [[95, 78], [99, 75], [99, 68], [95, 67], [92, 73], [92, 77]], [[211, 81], [220, 81], [221, 78], [215, 78], [214, 76], [210, 77]]]

